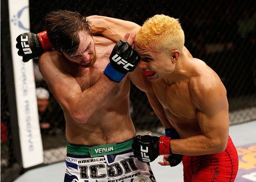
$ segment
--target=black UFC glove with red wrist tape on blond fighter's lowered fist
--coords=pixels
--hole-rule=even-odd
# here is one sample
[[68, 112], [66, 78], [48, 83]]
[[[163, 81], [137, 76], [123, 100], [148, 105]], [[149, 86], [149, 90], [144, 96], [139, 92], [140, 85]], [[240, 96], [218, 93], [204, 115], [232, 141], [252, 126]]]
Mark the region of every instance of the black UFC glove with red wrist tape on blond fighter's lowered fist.
[[170, 137], [155, 136], [150, 131], [134, 137], [132, 150], [139, 161], [148, 163], [154, 161], [159, 155], [170, 155]]

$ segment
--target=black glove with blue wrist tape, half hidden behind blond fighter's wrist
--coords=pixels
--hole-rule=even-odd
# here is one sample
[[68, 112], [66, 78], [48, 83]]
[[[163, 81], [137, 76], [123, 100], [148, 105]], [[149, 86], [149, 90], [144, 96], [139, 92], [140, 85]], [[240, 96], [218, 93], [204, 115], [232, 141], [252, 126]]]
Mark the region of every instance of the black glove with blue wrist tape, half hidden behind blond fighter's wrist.
[[[174, 128], [165, 129], [165, 136], [171, 137], [172, 139], [180, 139], [178, 132]], [[171, 154], [167, 161], [169, 161], [170, 166], [174, 167], [182, 161], [183, 155], [181, 154]]]

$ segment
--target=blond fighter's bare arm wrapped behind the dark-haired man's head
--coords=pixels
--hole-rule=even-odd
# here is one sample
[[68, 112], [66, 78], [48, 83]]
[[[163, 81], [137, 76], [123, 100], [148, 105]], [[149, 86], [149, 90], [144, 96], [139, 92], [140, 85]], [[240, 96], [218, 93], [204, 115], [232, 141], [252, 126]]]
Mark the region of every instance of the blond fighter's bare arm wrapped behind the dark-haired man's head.
[[116, 18], [92, 15], [87, 17], [91, 21], [91, 32], [102, 34], [104, 37], [117, 42], [122, 39], [125, 33], [130, 32], [131, 36], [141, 28], [138, 24]]

